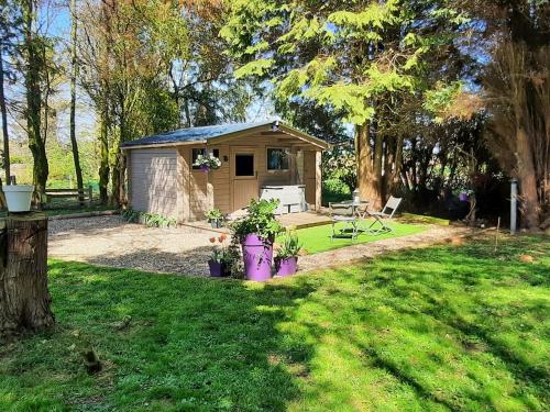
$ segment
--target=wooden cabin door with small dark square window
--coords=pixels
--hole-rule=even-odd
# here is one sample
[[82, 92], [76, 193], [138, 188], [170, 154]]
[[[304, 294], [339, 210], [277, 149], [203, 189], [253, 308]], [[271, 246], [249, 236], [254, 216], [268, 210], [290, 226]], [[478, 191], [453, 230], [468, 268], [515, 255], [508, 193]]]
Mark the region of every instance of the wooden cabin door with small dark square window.
[[231, 185], [233, 211], [258, 198], [256, 147], [231, 147]]

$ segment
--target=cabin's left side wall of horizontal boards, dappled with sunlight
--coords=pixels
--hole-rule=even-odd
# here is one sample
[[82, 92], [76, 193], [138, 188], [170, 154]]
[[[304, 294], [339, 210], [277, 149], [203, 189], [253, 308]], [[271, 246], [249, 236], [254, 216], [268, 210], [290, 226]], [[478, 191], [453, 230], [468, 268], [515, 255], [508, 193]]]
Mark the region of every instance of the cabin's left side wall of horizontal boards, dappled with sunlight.
[[133, 149], [130, 153], [131, 208], [177, 218], [177, 151], [146, 148]]

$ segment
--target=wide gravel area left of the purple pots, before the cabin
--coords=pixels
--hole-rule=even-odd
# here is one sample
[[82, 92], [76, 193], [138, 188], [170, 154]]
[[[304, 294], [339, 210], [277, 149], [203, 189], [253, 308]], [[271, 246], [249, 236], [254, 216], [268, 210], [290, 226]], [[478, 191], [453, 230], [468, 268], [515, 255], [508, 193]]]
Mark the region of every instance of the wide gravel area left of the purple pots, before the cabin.
[[182, 275], [208, 275], [212, 235], [127, 223], [121, 216], [50, 221], [53, 258]]

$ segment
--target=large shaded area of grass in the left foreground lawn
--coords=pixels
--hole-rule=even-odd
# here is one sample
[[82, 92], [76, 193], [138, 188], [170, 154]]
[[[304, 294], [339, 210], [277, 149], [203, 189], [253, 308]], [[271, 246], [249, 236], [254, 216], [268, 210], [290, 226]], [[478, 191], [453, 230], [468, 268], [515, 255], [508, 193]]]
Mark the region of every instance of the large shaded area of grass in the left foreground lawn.
[[[276, 325], [310, 293], [305, 285], [62, 261], [51, 263], [50, 274], [57, 325], [0, 353], [2, 410], [284, 411], [299, 394], [296, 379], [307, 375], [312, 348], [283, 337]], [[103, 363], [95, 377], [85, 374], [79, 355], [88, 346]], [[24, 391], [21, 382], [28, 382]], [[7, 393], [16, 401], [2, 404]]]

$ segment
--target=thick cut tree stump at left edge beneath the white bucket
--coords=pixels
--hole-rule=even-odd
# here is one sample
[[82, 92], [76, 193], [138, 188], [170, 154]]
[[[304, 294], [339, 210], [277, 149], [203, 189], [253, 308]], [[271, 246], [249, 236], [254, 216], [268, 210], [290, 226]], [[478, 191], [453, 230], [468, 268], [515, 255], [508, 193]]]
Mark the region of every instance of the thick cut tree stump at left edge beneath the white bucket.
[[54, 324], [47, 290], [47, 216], [10, 215], [0, 221], [0, 336]]

